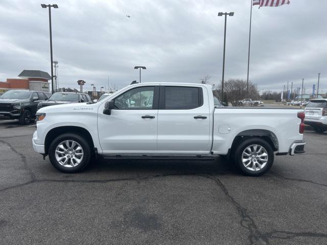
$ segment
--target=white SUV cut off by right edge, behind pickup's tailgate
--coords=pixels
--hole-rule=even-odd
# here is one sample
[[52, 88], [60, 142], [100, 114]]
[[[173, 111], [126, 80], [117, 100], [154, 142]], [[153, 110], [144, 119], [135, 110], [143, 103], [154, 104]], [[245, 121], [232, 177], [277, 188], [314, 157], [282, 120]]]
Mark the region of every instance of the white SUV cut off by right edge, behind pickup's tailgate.
[[305, 124], [317, 133], [327, 130], [327, 99], [310, 100], [305, 109]]

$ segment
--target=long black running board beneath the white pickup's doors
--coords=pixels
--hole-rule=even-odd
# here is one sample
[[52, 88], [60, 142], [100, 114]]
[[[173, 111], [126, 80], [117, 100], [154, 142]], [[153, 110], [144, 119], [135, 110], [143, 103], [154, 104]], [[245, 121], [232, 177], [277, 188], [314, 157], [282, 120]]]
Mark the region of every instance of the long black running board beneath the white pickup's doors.
[[214, 160], [213, 155], [99, 154], [103, 159]]

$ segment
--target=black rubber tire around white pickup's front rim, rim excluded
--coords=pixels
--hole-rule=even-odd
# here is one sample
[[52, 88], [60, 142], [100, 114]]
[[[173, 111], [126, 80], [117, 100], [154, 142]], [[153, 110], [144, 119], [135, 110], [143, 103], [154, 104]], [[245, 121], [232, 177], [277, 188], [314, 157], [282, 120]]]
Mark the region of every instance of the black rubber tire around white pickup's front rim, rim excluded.
[[[65, 140], [74, 140], [82, 148], [83, 158], [82, 158], [81, 162], [78, 163], [76, 166], [70, 166], [70, 167], [67, 166], [67, 165], [63, 166], [56, 159], [55, 154], [56, 154], [57, 146], [61, 142], [65, 141]], [[78, 172], [84, 170], [84, 168], [89, 164], [90, 158], [91, 158], [90, 145], [82, 136], [80, 136], [78, 134], [66, 133], [66, 134], [59, 135], [57, 138], [55, 138], [51, 142], [51, 144], [49, 146], [49, 159], [50, 159], [50, 162], [55, 168], [57, 168], [62, 173], [78, 173]], [[73, 160], [68, 159], [68, 162], [69, 161], [72, 162]]]

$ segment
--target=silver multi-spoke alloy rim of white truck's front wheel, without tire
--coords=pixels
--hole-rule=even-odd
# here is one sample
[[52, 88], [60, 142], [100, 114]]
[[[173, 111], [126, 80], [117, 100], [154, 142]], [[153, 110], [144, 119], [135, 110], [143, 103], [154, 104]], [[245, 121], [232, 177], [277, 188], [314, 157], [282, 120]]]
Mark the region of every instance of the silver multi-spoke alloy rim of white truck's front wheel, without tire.
[[57, 162], [64, 167], [76, 167], [83, 159], [82, 146], [74, 140], [58, 144], [55, 152]]

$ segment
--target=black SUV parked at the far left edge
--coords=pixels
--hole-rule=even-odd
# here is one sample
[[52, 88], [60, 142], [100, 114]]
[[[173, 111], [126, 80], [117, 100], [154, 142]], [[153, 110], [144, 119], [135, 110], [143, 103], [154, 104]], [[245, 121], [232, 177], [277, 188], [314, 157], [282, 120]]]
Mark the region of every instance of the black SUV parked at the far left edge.
[[0, 115], [19, 119], [22, 125], [29, 124], [35, 117], [38, 103], [50, 96], [51, 93], [46, 92], [9, 90], [0, 96]]

